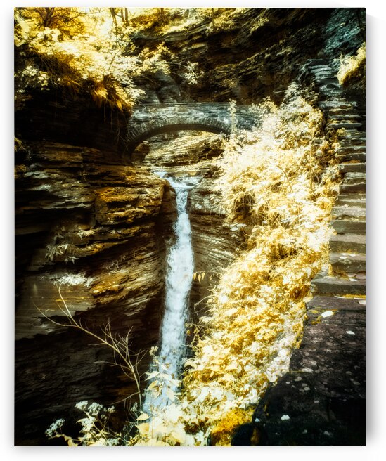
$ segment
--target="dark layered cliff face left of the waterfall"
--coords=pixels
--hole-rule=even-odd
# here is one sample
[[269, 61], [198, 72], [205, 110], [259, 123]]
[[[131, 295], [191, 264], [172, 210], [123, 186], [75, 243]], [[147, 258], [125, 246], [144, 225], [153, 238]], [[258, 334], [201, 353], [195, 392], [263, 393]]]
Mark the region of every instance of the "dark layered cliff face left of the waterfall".
[[[108, 322], [115, 335], [131, 330], [134, 352], [158, 339], [171, 192], [147, 169], [122, 164], [124, 117], [105, 119], [103, 110], [86, 107], [37, 98], [17, 113], [18, 444], [46, 444], [44, 429], [72, 415], [79, 400], [108, 404], [135, 391], [105, 364], [113, 361], [110, 349], [48, 320], [67, 322], [60, 295], [92, 332], [101, 334]], [[145, 357], [140, 371], [147, 366]]]

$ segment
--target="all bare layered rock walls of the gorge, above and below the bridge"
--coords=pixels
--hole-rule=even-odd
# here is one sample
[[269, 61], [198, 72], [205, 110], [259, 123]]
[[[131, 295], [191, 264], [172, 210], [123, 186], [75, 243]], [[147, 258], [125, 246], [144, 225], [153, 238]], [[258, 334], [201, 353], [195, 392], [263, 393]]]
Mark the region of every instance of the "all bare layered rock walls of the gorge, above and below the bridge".
[[[197, 62], [205, 78], [195, 86], [162, 72], [153, 82], [139, 78], [140, 103], [233, 98], [249, 105], [266, 96], [279, 102], [309, 58], [323, 57], [336, 70], [338, 56], [354, 53], [363, 33], [361, 13], [348, 8], [249, 8], [229, 30], [210, 23], [162, 37], [150, 30], [136, 37], [138, 51], [165, 43]], [[351, 97], [361, 117], [364, 100]], [[90, 346], [84, 332], [49, 318], [65, 322], [61, 294], [91, 331], [110, 322], [117, 334], [131, 330], [135, 352], [157, 344], [175, 209], [173, 190], [152, 169], [202, 178], [188, 199], [195, 271], [205, 273], [193, 283], [193, 321], [205, 311], [221, 268], [243, 248], [245, 226], [225, 223], [221, 190], [212, 187], [221, 136], [160, 135], [130, 160], [126, 131], [120, 112], [98, 108], [82, 94], [37, 92], [16, 112], [22, 141], [15, 151], [16, 445], [48, 444], [44, 430], [58, 417], [79, 419], [79, 401], [110, 405], [136, 391], [119, 368], [107, 365], [108, 348]], [[126, 416], [123, 403], [117, 408]]]

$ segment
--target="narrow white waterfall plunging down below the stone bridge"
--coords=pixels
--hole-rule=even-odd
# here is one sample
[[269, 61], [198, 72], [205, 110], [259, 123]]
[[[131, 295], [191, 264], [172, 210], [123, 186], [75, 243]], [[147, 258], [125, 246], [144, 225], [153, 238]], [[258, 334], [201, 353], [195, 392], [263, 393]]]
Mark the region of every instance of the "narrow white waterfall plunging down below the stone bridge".
[[[164, 177], [164, 173], [157, 173]], [[165, 314], [162, 320], [161, 344], [152, 372], [154, 391], [147, 391], [143, 410], [152, 413], [152, 408], [162, 408], [174, 399], [179, 387], [181, 361], [186, 349], [185, 323], [188, 318], [188, 299], [193, 278], [193, 249], [191, 223], [186, 202], [188, 190], [200, 178], [168, 178], [176, 192], [177, 219], [174, 223], [176, 240], [167, 254], [167, 277], [165, 293]]]

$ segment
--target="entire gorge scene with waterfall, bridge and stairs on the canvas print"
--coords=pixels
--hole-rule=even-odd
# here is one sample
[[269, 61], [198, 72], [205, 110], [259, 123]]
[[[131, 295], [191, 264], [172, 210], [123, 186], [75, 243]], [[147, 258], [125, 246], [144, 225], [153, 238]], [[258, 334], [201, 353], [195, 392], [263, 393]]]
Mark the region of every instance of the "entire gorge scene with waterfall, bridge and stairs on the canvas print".
[[15, 8], [16, 446], [364, 445], [364, 42]]

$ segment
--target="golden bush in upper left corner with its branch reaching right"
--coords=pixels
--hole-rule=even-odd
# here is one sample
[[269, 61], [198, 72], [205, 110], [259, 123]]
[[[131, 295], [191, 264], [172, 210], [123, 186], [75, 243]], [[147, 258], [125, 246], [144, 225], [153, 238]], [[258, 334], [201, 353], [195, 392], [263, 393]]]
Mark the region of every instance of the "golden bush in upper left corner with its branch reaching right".
[[[48, 10], [53, 10], [50, 21], [41, 17]], [[23, 60], [15, 74], [16, 108], [30, 89], [60, 88], [71, 96], [84, 91], [98, 105], [131, 112], [143, 94], [134, 79], [168, 73], [172, 53], [158, 46], [129, 56], [130, 32], [117, 29], [110, 8], [16, 8], [15, 46]]]

